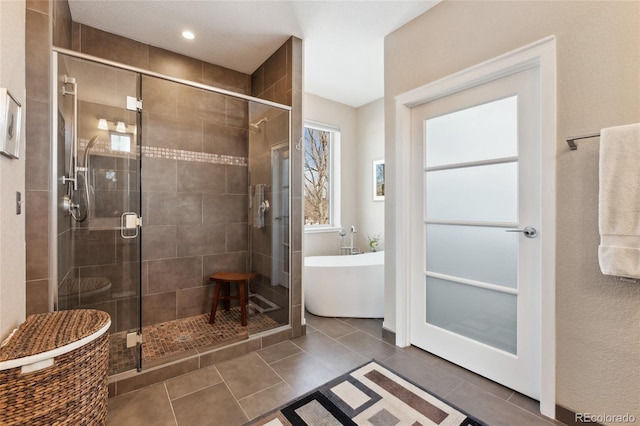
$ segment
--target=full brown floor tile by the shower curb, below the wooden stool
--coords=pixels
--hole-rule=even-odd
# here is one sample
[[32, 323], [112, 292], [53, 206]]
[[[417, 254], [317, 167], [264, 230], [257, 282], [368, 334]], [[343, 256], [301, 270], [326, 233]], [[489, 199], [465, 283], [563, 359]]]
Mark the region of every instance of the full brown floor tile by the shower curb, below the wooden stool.
[[216, 364], [233, 395], [242, 399], [281, 382], [282, 379], [256, 353]]

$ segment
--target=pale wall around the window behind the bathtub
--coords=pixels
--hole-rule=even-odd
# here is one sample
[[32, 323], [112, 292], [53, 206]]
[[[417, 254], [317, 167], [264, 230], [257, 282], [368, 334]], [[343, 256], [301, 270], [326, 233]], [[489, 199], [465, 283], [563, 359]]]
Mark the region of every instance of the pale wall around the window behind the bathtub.
[[[384, 158], [384, 100], [353, 108], [308, 93], [304, 96], [305, 120], [340, 128], [340, 225], [347, 231], [345, 238], [355, 225], [356, 247], [368, 250], [367, 234], [384, 234], [384, 202], [373, 201], [372, 183], [373, 160]], [[305, 233], [304, 256], [339, 253], [337, 231]]]

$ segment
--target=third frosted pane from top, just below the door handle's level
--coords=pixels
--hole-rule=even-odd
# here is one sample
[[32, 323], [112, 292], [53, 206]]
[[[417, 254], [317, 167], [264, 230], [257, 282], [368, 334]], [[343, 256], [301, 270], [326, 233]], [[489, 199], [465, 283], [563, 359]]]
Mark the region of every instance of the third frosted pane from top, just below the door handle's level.
[[505, 228], [427, 225], [427, 271], [516, 288], [518, 237]]

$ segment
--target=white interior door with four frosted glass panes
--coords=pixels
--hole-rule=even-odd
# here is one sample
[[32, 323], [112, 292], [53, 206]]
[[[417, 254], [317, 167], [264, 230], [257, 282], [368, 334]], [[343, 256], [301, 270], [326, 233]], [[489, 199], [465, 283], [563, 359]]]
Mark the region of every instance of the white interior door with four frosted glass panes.
[[411, 343], [536, 399], [539, 98], [532, 68], [411, 113]]

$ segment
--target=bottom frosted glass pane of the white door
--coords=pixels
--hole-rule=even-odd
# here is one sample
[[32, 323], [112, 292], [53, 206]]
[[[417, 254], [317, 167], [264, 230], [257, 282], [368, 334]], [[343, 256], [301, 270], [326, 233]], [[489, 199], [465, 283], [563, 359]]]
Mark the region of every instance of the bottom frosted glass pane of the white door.
[[515, 354], [515, 295], [427, 277], [426, 321]]

